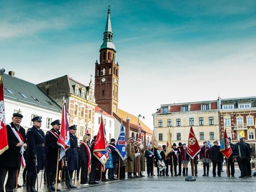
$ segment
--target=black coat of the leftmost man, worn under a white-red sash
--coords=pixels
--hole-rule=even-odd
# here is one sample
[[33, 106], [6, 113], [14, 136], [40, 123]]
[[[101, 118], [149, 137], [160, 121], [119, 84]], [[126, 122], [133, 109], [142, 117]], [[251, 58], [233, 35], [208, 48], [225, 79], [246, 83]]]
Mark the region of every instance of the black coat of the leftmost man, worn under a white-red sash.
[[[11, 122], [10, 125], [16, 131], [18, 131], [13, 122]], [[9, 125], [6, 125], [9, 149], [0, 155], [0, 167], [19, 168], [21, 166], [21, 154], [20, 147], [16, 147], [19, 141], [13, 133], [11, 127]], [[26, 143], [26, 133], [25, 129], [22, 126], [19, 126], [18, 133], [21, 134], [24, 142]]]

